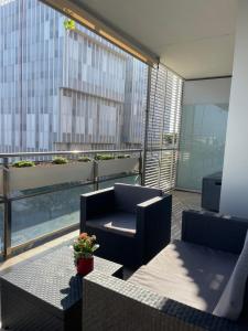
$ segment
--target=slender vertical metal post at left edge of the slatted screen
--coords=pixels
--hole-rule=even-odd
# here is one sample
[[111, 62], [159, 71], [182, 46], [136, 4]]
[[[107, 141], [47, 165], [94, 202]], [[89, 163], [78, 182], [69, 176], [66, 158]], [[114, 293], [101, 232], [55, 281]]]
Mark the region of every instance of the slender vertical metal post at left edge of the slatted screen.
[[145, 166], [148, 154], [148, 129], [149, 129], [149, 114], [150, 114], [150, 98], [151, 98], [151, 75], [152, 67], [148, 66], [148, 89], [147, 89], [147, 109], [144, 118], [144, 140], [143, 140], [143, 160], [142, 160], [142, 178], [141, 185], [145, 185]]

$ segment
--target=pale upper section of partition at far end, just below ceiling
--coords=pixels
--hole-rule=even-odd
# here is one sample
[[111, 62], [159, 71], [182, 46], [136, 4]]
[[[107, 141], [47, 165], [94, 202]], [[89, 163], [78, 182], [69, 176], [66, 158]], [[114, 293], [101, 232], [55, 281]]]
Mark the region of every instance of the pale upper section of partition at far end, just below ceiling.
[[228, 104], [231, 78], [186, 81], [183, 105]]

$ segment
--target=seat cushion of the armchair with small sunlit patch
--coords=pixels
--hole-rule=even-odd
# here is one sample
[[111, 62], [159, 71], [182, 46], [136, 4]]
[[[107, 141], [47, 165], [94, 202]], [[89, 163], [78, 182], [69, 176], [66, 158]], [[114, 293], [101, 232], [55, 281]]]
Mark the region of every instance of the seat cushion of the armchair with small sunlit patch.
[[114, 212], [86, 222], [87, 226], [104, 228], [127, 235], [136, 234], [136, 214]]

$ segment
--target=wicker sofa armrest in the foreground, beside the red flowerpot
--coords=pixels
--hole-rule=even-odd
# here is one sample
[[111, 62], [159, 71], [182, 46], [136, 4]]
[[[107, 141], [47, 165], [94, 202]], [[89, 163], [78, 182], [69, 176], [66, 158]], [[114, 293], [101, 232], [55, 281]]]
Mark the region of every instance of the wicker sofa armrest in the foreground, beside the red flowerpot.
[[83, 330], [236, 330], [225, 319], [98, 271], [83, 280]]

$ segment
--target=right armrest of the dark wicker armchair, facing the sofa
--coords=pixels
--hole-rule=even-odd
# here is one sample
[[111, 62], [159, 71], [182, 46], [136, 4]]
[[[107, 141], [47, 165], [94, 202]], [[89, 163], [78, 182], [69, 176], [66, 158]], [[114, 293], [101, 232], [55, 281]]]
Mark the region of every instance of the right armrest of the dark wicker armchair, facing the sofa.
[[147, 264], [171, 241], [172, 195], [155, 196], [137, 205], [137, 237]]

